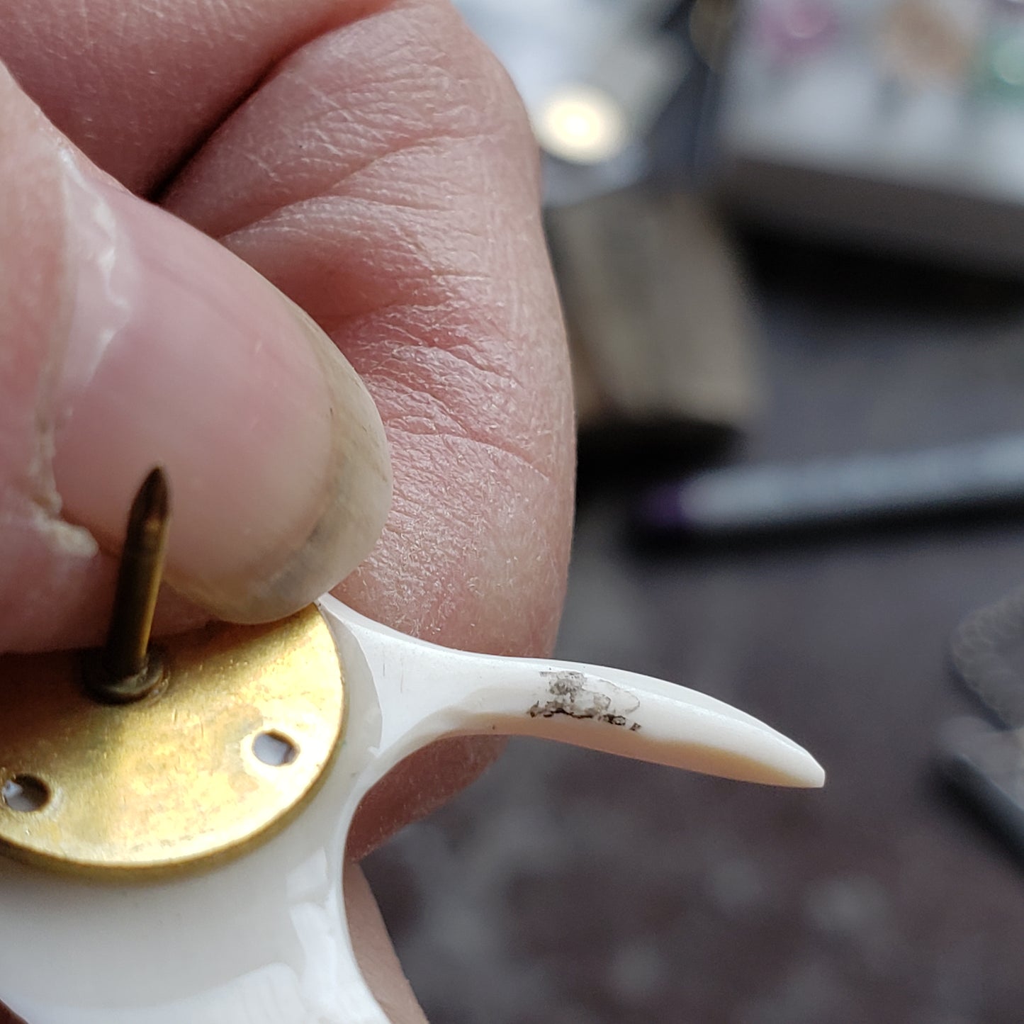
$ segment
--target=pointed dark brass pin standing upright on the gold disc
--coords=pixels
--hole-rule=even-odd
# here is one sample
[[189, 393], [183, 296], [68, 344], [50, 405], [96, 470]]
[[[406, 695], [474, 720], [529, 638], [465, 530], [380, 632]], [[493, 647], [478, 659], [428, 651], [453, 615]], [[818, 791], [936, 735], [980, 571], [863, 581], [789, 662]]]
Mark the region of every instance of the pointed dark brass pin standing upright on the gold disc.
[[169, 515], [167, 474], [157, 466], [132, 502], [106, 642], [87, 667], [86, 687], [97, 700], [138, 700], [163, 676], [159, 656], [150, 650], [150, 631], [164, 573]]

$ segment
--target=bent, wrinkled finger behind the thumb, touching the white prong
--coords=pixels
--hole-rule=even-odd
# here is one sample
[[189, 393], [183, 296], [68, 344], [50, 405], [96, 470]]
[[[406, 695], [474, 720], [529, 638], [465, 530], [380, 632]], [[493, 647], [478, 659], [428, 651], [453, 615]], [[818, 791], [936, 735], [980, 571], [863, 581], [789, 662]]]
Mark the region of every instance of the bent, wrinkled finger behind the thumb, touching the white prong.
[[[396, 71], [396, 52], [415, 73]], [[221, 126], [167, 202], [306, 306], [377, 399], [392, 512], [339, 596], [440, 643], [548, 649], [570, 402], [536, 160], [493, 58], [433, 4], [330, 33]], [[411, 758], [368, 796], [350, 852], [427, 813], [501, 748], [460, 739]]]

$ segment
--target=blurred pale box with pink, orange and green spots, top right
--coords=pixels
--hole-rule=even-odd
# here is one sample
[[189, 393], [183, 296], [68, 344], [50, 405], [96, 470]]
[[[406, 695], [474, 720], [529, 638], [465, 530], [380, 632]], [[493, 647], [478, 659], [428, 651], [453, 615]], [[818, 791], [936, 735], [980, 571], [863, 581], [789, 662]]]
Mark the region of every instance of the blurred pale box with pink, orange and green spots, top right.
[[1021, 272], [1024, 4], [749, 0], [716, 150], [749, 217]]

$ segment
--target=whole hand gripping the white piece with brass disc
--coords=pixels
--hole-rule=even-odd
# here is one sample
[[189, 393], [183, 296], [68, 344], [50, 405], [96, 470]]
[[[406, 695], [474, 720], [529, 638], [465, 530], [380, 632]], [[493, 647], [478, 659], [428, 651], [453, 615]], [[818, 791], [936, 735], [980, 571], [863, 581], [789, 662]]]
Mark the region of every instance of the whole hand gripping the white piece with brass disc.
[[[160, 629], [279, 617], [373, 543], [386, 485], [353, 376], [238, 257], [383, 418], [390, 514], [335, 592], [436, 642], [547, 648], [571, 514], [561, 322], [527, 128], [457, 15], [0, 0], [0, 650], [99, 640], [154, 462], [175, 498]], [[493, 755], [408, 763], [352, 854]], [[347, 888], [368, 978], [422, 1020], [365, 882]]]

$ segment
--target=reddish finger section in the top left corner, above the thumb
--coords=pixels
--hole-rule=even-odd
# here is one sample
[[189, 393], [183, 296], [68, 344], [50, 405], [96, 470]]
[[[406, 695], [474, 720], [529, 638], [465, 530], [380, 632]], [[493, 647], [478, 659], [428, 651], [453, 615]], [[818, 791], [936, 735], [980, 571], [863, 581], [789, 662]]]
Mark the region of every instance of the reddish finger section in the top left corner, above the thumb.
[[0, 0], [0, 60], [105, 171], [151, 194], [278, 60], [381, 0]]

